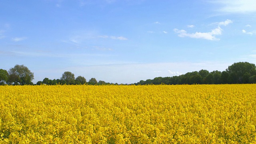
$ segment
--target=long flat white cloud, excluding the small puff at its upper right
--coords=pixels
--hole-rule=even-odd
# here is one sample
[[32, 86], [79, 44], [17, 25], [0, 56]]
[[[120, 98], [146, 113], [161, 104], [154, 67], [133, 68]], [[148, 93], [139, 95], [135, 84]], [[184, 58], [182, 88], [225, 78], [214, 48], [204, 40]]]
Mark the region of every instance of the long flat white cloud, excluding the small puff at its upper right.
[[222, 34], [222, 29], [220, 27], [213, 29], [211, 32], [195, 32], [195, 33], [188, 33], [186, 30], [178, 30], [174, 29], [174, 32], [178, 33], [179, 37], [190, 37], [190, 38], [202, 38], [206, 40], [220, 40], [216, 38], [216, 35]]

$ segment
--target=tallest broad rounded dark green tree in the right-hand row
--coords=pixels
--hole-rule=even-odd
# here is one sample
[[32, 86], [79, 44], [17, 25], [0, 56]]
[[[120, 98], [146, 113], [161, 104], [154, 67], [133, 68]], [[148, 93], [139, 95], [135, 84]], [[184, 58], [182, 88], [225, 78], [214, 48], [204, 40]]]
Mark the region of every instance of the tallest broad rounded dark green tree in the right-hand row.
[[[249, 62], [235, 62], [231, 66], [228, 66], [226, 71], [231, 76], [231, 83], [242, 84], [243, 82], [248, 82], [248, 78], [256, 74], [256, 66]], [[244, 76], [245, 73], [246, 75]]]

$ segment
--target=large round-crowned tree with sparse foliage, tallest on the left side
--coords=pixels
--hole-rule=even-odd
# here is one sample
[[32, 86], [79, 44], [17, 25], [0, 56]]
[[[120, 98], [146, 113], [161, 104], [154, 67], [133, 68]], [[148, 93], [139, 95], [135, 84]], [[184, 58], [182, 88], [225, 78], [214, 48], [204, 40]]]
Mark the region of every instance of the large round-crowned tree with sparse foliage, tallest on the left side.
[[10, 68], [8, 71], [10, 75], [9, 82], [19, 83], [20, 85], [31, 84], [31, 81], [34, 79], [34, 73], [31, 72], [28, 67], [16, 64], [14, 68]]

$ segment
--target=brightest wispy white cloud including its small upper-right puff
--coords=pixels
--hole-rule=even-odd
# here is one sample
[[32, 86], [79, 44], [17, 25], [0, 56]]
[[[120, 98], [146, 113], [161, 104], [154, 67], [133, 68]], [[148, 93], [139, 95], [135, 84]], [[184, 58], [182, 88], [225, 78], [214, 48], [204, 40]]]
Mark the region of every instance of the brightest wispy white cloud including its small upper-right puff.
[[231, 24], [232, 20], [225, 20], [224, 22], [216, 22], [214, 24], [218, 24], [218, 28], [212, 29], [210, 32], [195, 32], [195, 33], [188, 33], [186, 30], [179, 30], [177, 28], [174, 29], [174, 32], [178, 33], [179, 37], [190, 37], [190, 38], [202, 38], [206, 40], [220, 40], [216, 38], [217, 35], [222, 35], [222, 28], [220, 26], [227, 26]]

